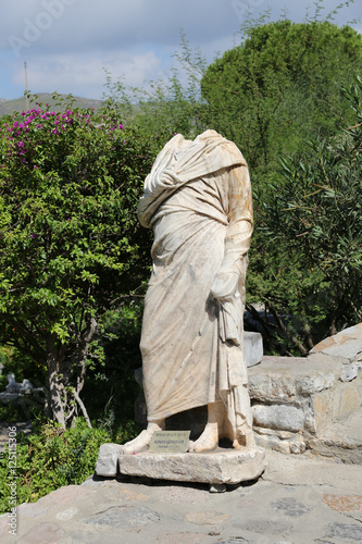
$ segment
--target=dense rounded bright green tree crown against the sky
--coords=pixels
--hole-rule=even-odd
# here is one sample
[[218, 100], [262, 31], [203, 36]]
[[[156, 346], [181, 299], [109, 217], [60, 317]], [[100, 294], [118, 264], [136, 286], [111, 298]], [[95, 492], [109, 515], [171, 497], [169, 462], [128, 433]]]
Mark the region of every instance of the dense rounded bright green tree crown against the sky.
[[235, 141], [258, 184], [305, 138], [335, 134], [349, 111], [341, 86], [362, 61], [362, 38], [328, 21], [288, 20], [245, 28], [245, 41], [202, 78], [213, 128]]

